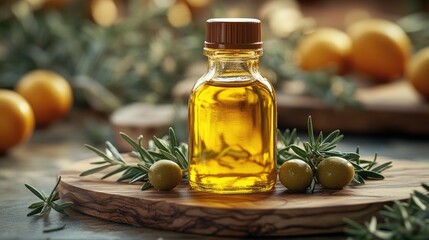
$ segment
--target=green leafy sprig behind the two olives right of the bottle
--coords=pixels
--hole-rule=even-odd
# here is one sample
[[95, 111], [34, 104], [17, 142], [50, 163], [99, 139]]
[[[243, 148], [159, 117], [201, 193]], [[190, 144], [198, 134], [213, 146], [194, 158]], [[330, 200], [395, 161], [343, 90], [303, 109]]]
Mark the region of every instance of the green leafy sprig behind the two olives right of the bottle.
[[[341, 152], [336, 150], [337, 144], [343, 139], [344, 135], [339, 130], [335, 130], [324, 137], [320, 132], [317, 138], [314, 135], [313, 122], [311, 116], [307, 120], [307, 133], [309, 141], [300, 144], [296, 129], [287, 129], [283, 134], [278, 131], [280, 141], [283, 147], [277, 151], [277, 164], [281, 165], [291, 159], [301, 159], [307, 162], [313, 172], [316, 172], [319, 163], [328, 157], [342, 157], [348, 160], [355, 168], [353, 183], [364, 184], [365, 180], [382, 180], [381, 174], [384, 170], [391, 167], [392, 162], [386, 162], [377, 165], [377, 154], [372, 161], [361, 159], [359, 147], [356, 152]], [[311, 191], [314, 191], [317, 179], [313, 179]]]

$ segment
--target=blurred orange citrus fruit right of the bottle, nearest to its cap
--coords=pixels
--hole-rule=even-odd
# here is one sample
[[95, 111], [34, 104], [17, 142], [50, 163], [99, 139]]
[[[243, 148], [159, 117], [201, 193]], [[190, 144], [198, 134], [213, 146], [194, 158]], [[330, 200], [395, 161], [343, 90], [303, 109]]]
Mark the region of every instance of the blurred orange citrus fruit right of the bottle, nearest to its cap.
[[351, 45], [349, 36], [340, 30], [316, 29], [298, 44], [297, 65], [307, 71], [335, 68], [343, 74], [348, 69]]

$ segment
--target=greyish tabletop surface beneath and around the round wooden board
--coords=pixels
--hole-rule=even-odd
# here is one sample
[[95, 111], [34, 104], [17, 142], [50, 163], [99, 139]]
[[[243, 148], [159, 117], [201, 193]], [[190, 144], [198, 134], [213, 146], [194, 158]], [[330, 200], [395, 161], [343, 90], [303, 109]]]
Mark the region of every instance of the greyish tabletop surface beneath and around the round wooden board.
[[[90, 119], [87, 115], [82, 117], [82, 113], [74, 112], [60, 123], [38, 129], [28, 143], [0, 157], [0, 239], [201, 239], [200, 235], [133, 227], [74, 211], [70, 212], [69, 217], [56, 212], [47, 218], [26, 217], [29, 212], [27, 206], [36, 198], [24, 187], [24, 183], [48, 192], [60, 169], [93, 156], [82, 146], [89, 142], [85, 126]], [[313, 121], [317, 128], [317, 119]], [[346, 134], [340, 149], [354, 151], [356, 145], [361, 147], [363, 155], [378, 152], [380, 156], [390, 158], [429, 162], [429, 138], [397, 136], [395, 133], [384, 137]], [[59, 224], [66, 224], [65, 229], [42, 232], [48, 226]], [[307, 238], [342, 239], [344, 236]], [[218, 237], [204, 236], [204, 239]]]

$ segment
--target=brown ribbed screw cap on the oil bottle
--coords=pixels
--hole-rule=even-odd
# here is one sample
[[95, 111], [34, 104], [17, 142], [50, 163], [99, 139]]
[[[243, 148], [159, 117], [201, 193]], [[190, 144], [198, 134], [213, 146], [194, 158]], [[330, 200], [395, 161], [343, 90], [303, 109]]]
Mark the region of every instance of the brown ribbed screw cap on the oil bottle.
[[262, 48], [261, 21], [255, 18], [212, 18], [206, 23], [206, 48]]

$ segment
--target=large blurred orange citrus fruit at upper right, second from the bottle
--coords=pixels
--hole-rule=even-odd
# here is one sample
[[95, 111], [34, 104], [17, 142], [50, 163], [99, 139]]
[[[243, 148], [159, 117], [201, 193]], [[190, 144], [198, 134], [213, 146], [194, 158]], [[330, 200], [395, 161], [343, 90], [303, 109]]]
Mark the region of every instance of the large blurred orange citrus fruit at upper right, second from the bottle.
[[379, 82], [392, 81], [404, 73], [411, 43], [398, 25], [383, 19], [365, 19], [350, 25], [347, 33], [357, 72]]

